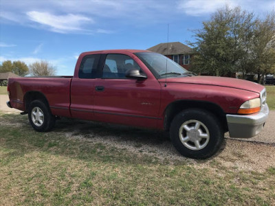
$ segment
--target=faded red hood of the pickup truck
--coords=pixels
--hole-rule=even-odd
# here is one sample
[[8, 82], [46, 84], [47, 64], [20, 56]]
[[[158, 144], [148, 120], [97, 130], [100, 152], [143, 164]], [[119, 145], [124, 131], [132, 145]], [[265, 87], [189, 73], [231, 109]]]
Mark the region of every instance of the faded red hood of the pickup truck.
[[184, 83], [184, 84], [206, 84], [219, 87], [231, 87], [236, 89], [244, 89], [260, 93], [265, 87], [255, 82], [247, 80], [239, 80], [235, 78], [222, 78], [215, 76], [190, 76], [190, 77], [177, 77], [159, 79], [159, 82], [167, 83]]

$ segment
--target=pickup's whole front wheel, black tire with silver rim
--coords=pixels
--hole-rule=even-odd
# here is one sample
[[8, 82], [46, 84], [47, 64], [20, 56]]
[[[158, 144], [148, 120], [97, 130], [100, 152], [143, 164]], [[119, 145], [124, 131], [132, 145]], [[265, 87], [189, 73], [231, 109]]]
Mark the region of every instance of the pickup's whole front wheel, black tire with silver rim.
[[214, 155], [221, 148], [223, 137], [217, 117], [200, 108], [181, 111], [170, 126], [170, 139], [175, 148], [181, 155], [193, 159]]

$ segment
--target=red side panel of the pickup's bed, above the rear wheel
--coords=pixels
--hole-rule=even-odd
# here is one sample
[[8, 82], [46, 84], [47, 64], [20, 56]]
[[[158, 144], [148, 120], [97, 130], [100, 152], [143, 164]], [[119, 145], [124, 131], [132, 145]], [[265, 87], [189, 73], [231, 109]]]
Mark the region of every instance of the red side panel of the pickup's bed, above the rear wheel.
[[10, 104], [27, 111], [24, 98], [30, 93], [45, 95], [53, 115], [70, 117], [70, 87], [72, 76], [10, 78]]

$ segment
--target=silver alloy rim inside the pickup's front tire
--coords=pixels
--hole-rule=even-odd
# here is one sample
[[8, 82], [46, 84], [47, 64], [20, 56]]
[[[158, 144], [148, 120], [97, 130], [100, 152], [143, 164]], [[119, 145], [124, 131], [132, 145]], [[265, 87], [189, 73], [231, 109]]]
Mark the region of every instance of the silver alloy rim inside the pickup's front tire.
[[190, 119], [179, 128], [179, 139], [190, 150], [201, 150], [209, 142], [209, 130], [202, 122]]

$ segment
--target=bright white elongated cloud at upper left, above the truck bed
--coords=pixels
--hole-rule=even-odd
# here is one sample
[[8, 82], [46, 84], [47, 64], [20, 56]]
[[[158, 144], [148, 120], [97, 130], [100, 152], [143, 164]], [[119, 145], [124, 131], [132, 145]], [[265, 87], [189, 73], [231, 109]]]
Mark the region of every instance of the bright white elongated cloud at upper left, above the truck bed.
[[27, 12], [31, 21], [50, 27], [50, 30], [58, 33], [88, 32], [83, 28], [85, 23], [94, 23], [86, 16], [76, 14], [54, 15], [48, 12]]

